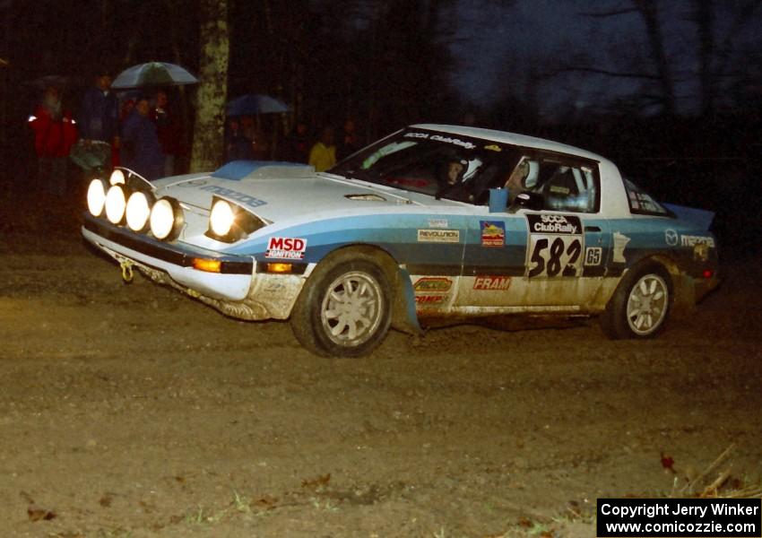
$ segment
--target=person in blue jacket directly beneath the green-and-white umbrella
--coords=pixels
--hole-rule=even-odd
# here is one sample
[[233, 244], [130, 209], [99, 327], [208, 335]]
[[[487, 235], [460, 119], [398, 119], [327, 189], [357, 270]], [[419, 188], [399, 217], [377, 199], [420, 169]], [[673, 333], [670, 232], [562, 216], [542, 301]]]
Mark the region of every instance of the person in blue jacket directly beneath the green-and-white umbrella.
[[164, 172], [156, 124], [151, 120], [151, 106], [147, 97], [139, 97], [122, 126], [122, 165], [143, 178], [160, 178]]

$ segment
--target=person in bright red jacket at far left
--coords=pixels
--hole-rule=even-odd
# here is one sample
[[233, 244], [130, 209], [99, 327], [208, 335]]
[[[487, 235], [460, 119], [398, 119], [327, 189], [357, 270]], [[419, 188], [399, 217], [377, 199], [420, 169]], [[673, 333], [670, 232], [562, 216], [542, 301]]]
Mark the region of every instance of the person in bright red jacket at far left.
[[72, 114], [61, 104], [61, 92], [48, 86], [34, 116], [29, 118], [34, 131], [34, 150], [38, 160], [38, 182], [53, 195], [66, 192], [66, 162], [77, 140]]

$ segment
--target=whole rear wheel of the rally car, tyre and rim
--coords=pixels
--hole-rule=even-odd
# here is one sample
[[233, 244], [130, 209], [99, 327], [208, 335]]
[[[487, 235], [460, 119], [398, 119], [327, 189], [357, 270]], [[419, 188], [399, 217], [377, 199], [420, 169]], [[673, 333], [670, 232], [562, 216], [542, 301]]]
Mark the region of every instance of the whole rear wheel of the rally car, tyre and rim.
[[610, 338], [651, 338], [667, 321], [671, 306], [670, 275], [661, 265], [646, 265], [619, 282], [601, 316]]

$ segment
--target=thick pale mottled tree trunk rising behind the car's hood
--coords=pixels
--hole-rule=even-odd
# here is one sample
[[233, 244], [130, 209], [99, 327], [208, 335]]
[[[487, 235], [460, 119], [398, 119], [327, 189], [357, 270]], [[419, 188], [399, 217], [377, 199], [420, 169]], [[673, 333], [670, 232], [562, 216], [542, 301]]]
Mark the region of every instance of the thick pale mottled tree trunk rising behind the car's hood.
[[228, 97], [228, 0], [199, 0], [201, 55], [190, 171], [217, 168], [224, 153]]

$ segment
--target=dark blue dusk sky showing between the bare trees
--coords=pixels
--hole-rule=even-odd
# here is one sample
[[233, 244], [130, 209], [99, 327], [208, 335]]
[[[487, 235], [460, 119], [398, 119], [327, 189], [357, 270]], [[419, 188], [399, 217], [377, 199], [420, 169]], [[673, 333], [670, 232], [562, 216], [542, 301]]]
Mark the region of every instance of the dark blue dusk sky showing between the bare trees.
[[[473, 4], [463, 3], [456, 17], [459, 41], [453, 46], [461, 67], [456, 85], [469, 99], [489, 104], [500, 97], [498, 76], [501, 72], [507, 71], [521, 87], [522, 73], [527, 66], [545, 58], [571, 59], [578, 54], [587, 54], [596, 65], [616, 70], [621, 58], [633, 51], [647, 54], [645, 30], [639, 14], [596, 19], [580, 13], [629, 5], [624, 0], [516, 0], [513, 6], [504, 7], [495, 2], [480, 4], [477, 9]], [[717, 5], [721, 6], [721, 3]], [[740, 6], [740, 3], [736, 5]], [[662, 35], [671, 63], [680, 70], [682, 78], [688, 79], [678, 87], [680, 104], [684, 108], [691, 105], [697, 70], [696, 27], [688, 20], [692, 6], [687, 1], [659, 4]], [[719, 11], [715, 38], [722, 41], [731, 22], [722, 10]], [[762, 13], [759, 12], [755, 21], [747, 22], [742, 31], [734, 35], [737, 47], [748, 45], [755, 39], [755, 30], [762, 26]], [[541, 105], [552, 108], [554, 98], [567, 100], [571, 97], [571, 102], [585, 107], [618, 92], [631, 91], [636, 83], [594, 75], [567, 76], [559, 82], [552, 91], [545, 89]]]

